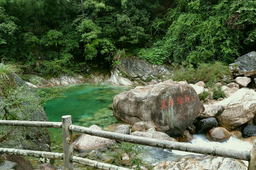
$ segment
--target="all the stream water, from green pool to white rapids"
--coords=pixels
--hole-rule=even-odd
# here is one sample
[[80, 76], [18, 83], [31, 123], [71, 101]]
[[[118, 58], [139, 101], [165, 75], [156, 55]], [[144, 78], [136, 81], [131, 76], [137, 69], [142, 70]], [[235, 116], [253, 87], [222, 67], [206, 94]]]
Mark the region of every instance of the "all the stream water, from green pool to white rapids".
[[[132, 86], [121, 86], [111, 85], [108, 83], [92, 83], [86, 82], [71, 86], [67, 91], [64, 92], [67, 98], [60, 98], [48, 101], [44, 106], [44, 110], [51, 122], [61, 122], [61, 116], [71, 115], [72, 124], [89, 127], [93, 124], [101, 127], [102, 129], [108, 128], [111, 124], [123, 123], [121, 120], [116, 119], [113, 116], [111, 105], [113, 98], [120, 92], [127, 91]], [[40, 88], [45, 92], [50, 92], [52, 88], [56, 87], [44, 87]], [[51, 148], [52, 152], [62, 152], [62, 129], [49, 129], [51, 137]], [[75, 137], [78, 134], [73, 133]], [[228, 148], [242, 148], [243, 150], [249, 150], [252, 145], [242, 142], [238, 139], [231, 137], [227, 142], [224, 143], [212, 143], [209, 142], [205, 135], [194, 135], [192, 143], [202, 145], [223, 146]], [[93, 151], [74, 151], [74, 155], [80, 156], [87, 159], [106, 160], [109, 157], [105, 153], [106, 147], [99, 148]], [[185, 155], [192, 154], [181, 151], [169, 151], [161, 148], [148, 147], [147, 153], [143, 153], [142, 157], [151, 164], [156, 164], [162, 160], [173, 160], [178, 161]], [[182, 155], [182, 156], [181, 156]], [[61, 169], [63, 166], [62, 160], [54, 160], [54, 165], [57, 169]], [[93, 169], [85, 167], [80, 164], [74, 164], [75, 169]]]

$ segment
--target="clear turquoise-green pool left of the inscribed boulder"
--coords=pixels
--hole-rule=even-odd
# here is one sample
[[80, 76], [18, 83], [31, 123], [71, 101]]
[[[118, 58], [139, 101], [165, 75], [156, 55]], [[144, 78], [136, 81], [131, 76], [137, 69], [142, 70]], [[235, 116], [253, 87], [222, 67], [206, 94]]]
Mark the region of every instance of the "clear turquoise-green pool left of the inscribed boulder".
[[[52, 88], [57, 87], [40, 89], [50, 92]], [[67, 98], [48, 101], [44, 105], [44, 110], [50, 122], [61, 122], [61, 116], [71, 115], [72, 124], [84, 127], [95, 124], [104, 129], [111, 124], [121, 122], [113, 116], [111, 104], [117, 94], [131, 88], [134, 87], [108, 83], [86, 82], [75, 84], [64, 92], [68, 96]], [[49, 131], [52, 152], [62, 152], [62, 130], [52, 128]]]

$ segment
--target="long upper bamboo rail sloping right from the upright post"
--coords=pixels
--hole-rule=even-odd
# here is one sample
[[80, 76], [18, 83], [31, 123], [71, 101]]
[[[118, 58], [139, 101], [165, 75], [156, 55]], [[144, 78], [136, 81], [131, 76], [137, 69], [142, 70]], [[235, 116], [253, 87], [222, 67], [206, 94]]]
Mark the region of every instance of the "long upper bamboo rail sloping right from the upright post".
[[104, 130], [96, 130], [85, 128], [76, 125], [70, 125], [69, 130], [87, 135], [103, 137], [118, 141], [124, 141], [134, 144], [142, 144], [164, 149], [173, 149], [185, 152], [200, 153], [205, 155], [220, 156], [225, 158], [234, 158], [242, 160], [250, 160], [250, 151], [239, 151], [233, 149], [226, 149], [218, 146], [202, 146], [197, 144], [172, 142], [167, 140], [153, 139], [148, 137], [138, 137], [127, 134], [120, 134], [115, 132], [108, 132]]

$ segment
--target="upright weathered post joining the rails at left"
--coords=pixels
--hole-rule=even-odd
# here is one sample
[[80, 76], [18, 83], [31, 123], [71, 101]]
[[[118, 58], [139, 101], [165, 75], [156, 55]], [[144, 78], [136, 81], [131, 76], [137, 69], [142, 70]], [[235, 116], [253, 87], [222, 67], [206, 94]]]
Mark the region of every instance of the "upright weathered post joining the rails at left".
[[62, 116], [61, 118], [64, 170], [73, 170], [73, 162], [70, 161], [73, 153], [72, 131], [69, 131], [69, 125], [72, 124], [71, 115]]

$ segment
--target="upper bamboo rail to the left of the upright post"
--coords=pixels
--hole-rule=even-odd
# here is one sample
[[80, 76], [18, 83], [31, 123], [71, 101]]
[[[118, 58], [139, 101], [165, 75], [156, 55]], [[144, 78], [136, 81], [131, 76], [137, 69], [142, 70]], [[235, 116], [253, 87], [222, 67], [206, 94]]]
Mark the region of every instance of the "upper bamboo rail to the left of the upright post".
[[61, 128], [61, 122], [43, 122], [43, 121], [6, 121], [0, 120], [0, 126], [23, 126], [23, 127], [41, 127], [41, 128]]

